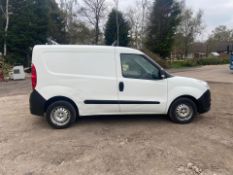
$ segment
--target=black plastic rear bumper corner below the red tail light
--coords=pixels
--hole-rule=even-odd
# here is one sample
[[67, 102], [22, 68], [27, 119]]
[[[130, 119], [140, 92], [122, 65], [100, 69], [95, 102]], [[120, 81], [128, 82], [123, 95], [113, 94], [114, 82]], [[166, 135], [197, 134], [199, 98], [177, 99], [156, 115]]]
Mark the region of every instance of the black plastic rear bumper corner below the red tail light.
[[29, 99], [31, 114], [43, 116], [45, 113], [45, 102], [46, 100], [34, 90]]

